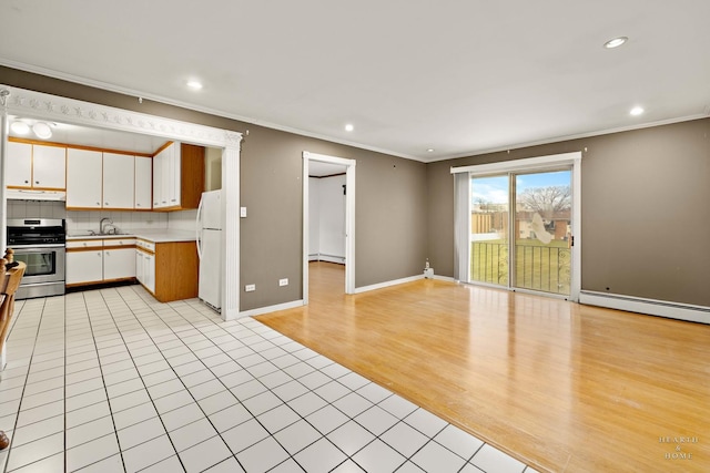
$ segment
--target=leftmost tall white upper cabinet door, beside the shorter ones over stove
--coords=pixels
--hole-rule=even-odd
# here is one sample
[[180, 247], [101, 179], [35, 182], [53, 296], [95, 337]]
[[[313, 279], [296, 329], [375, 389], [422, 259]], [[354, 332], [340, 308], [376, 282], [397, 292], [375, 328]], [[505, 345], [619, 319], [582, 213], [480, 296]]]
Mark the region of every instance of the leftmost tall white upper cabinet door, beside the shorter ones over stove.
[[102, 153], [67, 150], [67, 208], [101, 208], [103, 185]]

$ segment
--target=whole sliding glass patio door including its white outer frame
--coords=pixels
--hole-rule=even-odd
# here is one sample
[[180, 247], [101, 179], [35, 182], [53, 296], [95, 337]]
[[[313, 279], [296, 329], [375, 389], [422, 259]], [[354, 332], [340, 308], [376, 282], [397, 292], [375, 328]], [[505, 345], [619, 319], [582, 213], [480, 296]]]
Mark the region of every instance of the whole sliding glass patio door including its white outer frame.
[[452, 168], [456, 279], [578, 300], [581, 153]]

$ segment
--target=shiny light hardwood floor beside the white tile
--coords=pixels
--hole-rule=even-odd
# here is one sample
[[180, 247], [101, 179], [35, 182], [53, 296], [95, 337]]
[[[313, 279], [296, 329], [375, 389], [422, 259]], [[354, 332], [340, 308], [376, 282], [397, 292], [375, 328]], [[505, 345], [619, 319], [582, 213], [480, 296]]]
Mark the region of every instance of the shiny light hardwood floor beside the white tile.
[[310, 273], [308, 306], [257, 320], [539, 471], [710, 471], [710, 326], [439, 280], [346, 296], [342, 266]]

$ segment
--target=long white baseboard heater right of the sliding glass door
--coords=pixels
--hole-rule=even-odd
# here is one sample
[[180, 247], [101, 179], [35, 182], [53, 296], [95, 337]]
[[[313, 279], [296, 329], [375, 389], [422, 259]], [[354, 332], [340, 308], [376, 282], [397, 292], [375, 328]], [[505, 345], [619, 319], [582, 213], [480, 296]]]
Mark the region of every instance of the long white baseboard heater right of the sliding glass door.
[[689, 322], [710, 323], [710, 307], [585, 290], [579, 294], [579, 304]]

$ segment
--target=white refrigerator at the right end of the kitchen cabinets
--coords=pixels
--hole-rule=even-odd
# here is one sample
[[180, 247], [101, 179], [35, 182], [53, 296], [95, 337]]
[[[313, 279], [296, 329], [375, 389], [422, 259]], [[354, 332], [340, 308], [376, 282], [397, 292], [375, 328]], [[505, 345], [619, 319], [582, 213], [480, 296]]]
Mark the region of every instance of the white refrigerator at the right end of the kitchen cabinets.
[[222, 191], [202, 194], [197, 207], [197, 296], [213, 309], [222, 309]]

